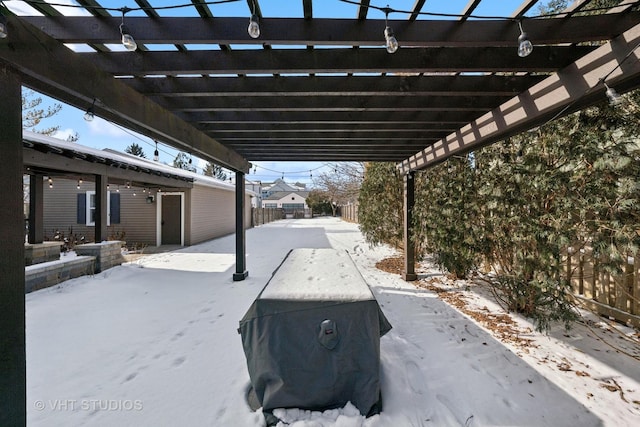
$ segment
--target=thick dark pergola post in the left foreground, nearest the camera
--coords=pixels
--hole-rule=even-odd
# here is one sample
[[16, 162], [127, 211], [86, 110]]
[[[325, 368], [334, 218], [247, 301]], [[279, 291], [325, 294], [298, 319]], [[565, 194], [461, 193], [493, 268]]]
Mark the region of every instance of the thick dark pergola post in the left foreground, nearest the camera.
[[0, 64], [0, 425], [27, 424], [21, 79]]

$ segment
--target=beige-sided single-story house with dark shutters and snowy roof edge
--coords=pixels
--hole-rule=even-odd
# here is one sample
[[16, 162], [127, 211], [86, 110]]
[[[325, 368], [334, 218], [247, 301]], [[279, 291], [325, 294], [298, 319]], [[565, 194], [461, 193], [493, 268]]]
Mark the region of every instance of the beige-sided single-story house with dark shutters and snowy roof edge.
[[[93, 176], [90, 173], [74, 175], [71, 171], [60, 174], [59, 169], [48, 175], [42, 167], [29, 167], [45, 164], [43, 158], [54, 162], [58, 156], [66, 159], [68, 163], [64, 164], [70, 164], [70, 153], [77, 157], [73, 160], [76, 168], [78, 161], [86, 162], [87, 158], [94, 157], [102, 161], [95, 168], [102, 167], [104, 162], [111, 166], [107, 168], [109, 239], [125, 240], [129, 244], [188, 246], [235, 232], [234, 184], [139, 157], [95, 150], [29, 132], [24, 132], [24, 139], [25, 166], [31, 173], [37, 170], [37, 182], [41, 179], [43, 184], [44, 240], [52, 240], [56, 232], [93, 240], [96, 206]], [[118, 177], [125, 172], [131, 176], [132, 170], [136, 171], [136, 180]], [[159, 177], [164, 185], [157, 184]], [[250, 191], [245, 194], [244, 220], [248, 228], [251, 226], [250, 201], [256, 194]]]

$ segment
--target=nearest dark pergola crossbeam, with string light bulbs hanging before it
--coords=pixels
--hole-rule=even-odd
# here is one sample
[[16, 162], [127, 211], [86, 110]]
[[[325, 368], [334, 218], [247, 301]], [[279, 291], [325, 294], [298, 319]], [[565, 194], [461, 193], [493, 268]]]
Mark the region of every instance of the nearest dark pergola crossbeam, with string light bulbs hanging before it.
[[[519, 16], [519, 15], [518, 15]], [[21, 19], [64, 43], [119, 43], [120, 17], [25, 16]], [[527, 20], [536, 44], [607, 40], [640, 20], [640, 12], [576, 16], [571, 20]], [[518, 23], [503, 20], [389, 20], [402, 46], [516, 47]], [[142, 44], [249, 44], [382, 46], [384, 19], [263, 18], [260, 39], [247, 35], [245, 18], [127, 17], [127, 27]]]

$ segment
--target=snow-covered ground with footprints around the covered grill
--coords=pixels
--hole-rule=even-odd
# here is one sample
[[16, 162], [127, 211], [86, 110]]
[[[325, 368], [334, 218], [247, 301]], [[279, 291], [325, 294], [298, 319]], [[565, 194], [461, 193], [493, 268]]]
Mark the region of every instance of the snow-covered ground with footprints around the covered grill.
[[[502, 343], [433, 290], [376, 269], [395, 251], [370, 248], [357, 225], [335, 218], [248, 230], [242, 282], [232, 281], [234, 242], [145, 256], [28, 294], [28, 424], [263, 426], [245, 401], [238, 321], [289, 250], [333, 247], [350, 252], [393, 325], [381, 338], [383, 412], [279, 412], [288, 425], [640, 425], [640, 351], [630, 335], [611, 337], [629, 355], [596, 340], [595, 330], [613, 334], [606, 324], [545, 336], [517, 319], [535, 345]], [[423, 285], [457, 287], [469, 306], [499, 311], [473, 286], [428, 265], [419, 273]]]

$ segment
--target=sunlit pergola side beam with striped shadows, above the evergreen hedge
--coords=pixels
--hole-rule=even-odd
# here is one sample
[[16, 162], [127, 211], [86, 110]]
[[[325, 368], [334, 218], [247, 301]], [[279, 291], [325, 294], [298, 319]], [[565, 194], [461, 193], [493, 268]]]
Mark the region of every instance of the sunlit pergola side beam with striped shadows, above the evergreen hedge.
[[640, 24], [546, 78], [526, 92], [430, 145], [398, 165], [402, 173], [425, 169], [515, 135], [561, 114], [605, 99], [601, 79], [610, 86], [640, 81]]

